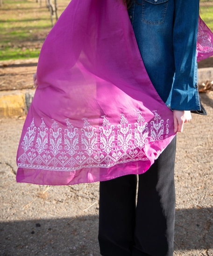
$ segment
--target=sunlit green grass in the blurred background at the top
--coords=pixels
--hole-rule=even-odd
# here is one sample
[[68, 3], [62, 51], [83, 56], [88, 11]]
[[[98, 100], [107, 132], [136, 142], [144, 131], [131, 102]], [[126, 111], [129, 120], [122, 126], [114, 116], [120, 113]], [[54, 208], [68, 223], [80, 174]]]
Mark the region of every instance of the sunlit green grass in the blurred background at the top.
[[[45, 7], [45, 0], [42, 1], [43, 6], [40, 7], [36, 0], [3, 0], [0, 8], [0, 60], [39, 56], [51, 29], [50, 13]], [[57, 2], [60, 15], [69, 0]], [[201, 18], [213, 30], [213, 0], [203, 2], [201, 0]]]

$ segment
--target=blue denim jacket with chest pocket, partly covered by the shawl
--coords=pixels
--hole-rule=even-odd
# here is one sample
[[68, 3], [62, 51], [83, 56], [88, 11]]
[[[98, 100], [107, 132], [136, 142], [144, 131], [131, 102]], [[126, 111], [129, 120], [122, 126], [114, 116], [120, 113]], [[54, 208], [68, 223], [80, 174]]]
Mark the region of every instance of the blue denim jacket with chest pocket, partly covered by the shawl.
[[128, 14], [157, 93], [171, 110], [200, 110], [196, 54], [199, 0], [137, 3], [133, 0]]

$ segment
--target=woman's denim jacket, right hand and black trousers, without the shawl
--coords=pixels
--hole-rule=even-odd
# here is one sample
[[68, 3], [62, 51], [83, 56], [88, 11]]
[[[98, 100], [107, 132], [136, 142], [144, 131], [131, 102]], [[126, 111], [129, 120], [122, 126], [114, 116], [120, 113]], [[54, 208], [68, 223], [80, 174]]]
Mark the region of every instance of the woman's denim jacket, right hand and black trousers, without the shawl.
[[[199, 110], [196, 42], [199, 0], [133, 0], [128, 14], [156, 91], [183, 132]], [[100, 182], [99, 244], [103, 256], [172, 256], [176, 138], [149, 170]]]

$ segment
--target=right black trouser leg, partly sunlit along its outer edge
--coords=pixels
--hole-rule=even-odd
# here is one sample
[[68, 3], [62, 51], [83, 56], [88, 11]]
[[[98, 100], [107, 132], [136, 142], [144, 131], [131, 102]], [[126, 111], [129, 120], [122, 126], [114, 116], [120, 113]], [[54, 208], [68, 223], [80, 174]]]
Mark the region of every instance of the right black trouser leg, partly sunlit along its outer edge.
[[175, 150], [176, 137], [149, 170], [139, 175], [132, 256], [173, 255]]

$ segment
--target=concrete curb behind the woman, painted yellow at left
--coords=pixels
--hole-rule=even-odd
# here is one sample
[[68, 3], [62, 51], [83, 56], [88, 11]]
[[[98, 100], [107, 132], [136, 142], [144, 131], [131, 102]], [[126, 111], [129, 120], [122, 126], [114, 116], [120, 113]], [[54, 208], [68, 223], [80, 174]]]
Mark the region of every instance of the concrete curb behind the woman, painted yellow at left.
[[[198, 84], [213, 80], [213, 67], [198, 69]], [[35, 89], [0, 92], [0, 117], [20, 117], [26, 115], [33, 100]]]

